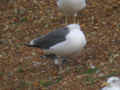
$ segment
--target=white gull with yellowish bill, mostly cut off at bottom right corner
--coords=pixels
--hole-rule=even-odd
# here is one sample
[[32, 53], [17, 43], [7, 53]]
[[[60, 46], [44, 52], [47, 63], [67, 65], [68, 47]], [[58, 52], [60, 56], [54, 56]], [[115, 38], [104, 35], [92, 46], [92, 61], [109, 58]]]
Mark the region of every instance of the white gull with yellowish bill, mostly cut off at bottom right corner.
[[120, 90], [120, 78], [119, 77], [110, 77], [105, 83], [106, 87], [101, 90]]

